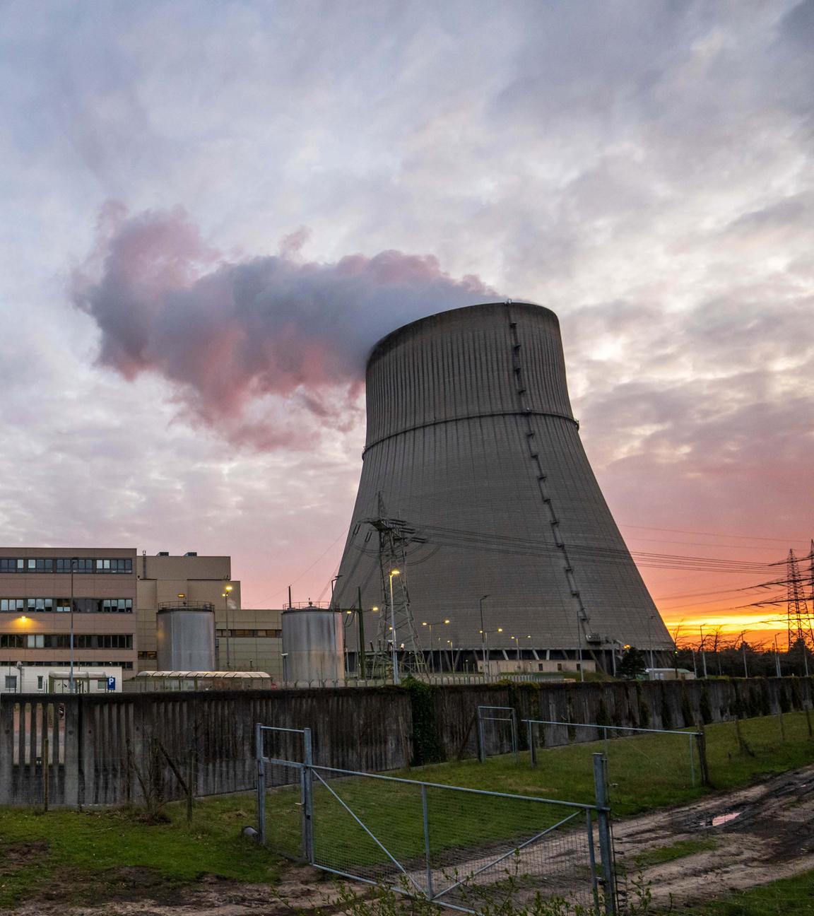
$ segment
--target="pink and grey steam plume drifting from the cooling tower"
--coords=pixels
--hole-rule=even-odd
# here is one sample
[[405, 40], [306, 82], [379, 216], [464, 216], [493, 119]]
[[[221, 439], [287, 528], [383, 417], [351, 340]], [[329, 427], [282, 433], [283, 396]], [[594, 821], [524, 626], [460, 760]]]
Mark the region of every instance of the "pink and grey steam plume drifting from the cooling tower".
[[[385, 333], [494, 295], [434, 256], [382, 251], [301, 260], [308, 230], [277, 256], [225, 260], [182, 210], [105, 204], [73, 301], [102, 332], [99, 359], [128, 379], [156, 373], [206, 424], [259, 447], [304, 445], [303, 428], [358, 416], [364, 361]], [[303, 424], [303, 410], [309, 421]], [[295, 431], [298, 430], [298, 434]]]

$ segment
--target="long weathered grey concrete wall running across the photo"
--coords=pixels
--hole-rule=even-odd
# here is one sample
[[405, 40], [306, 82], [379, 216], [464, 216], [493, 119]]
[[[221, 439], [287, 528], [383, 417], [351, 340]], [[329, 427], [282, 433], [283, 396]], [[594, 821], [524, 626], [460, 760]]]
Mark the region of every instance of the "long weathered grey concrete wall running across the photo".
[[[811, 708], [812, 700], [810, 678], [425, 686], [416, 692], [380, 687], [18, 694], [0, 703], [0, 804], [41, 803], [44, 736], [49, 737], [52, 805], [119, 804], [138, 801], [142, 781], [160, 785], [167, 799], [180, 797], [165, 752], [182, 773], [193, 755], [197, 794], [252, 789], [256, 723], [309, 726], [316, 763], [374, 771], [429, 758], [472, 757], [471, 724], [479, 704], [512, 706], [518, 719], [680, 728], [736, 714], [774, 714], [803, 704]], [[520, 737], [522, 745], [523, 728]], [[590, 729], [576, 736], [594, 737]], [[506, 745], [505, 737], [497, 736], [492, 749], [507, 750]]]

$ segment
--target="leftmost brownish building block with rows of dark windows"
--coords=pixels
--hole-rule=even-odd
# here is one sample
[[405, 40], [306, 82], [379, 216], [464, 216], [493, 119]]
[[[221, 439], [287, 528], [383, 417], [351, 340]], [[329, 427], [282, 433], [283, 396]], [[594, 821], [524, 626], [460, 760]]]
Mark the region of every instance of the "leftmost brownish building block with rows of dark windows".
[[0, 548], [0, 689], [23, 667], [136, 671], [133, 548]]

